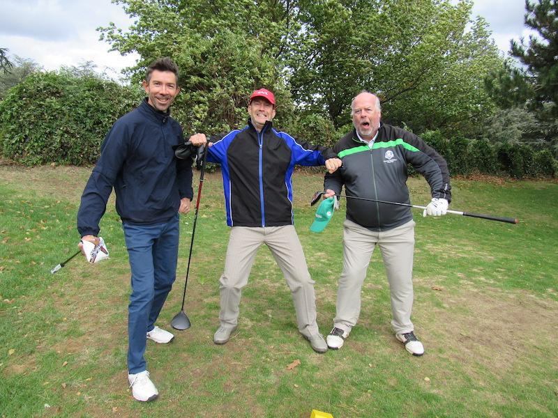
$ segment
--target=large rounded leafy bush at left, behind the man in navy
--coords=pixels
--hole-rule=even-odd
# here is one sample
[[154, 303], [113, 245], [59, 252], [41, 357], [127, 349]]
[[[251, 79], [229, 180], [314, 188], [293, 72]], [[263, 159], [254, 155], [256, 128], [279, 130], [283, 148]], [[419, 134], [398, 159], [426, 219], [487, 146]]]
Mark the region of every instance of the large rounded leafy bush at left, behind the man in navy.
[[142, 96], [94, 75], [36, 72], [0, 102], [1, 153], [27, 165], [96, 162], [114, 121]]

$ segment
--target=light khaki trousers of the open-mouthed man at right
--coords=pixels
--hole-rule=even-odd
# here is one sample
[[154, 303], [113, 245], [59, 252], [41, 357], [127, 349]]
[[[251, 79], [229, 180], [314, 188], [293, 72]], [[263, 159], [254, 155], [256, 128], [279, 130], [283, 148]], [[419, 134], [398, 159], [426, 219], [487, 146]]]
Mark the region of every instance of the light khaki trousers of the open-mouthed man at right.
[[343, 223], [343, 272], [337, 292], [333, 326], [350, 332], [361, 312], [361, 288], [376, 245], [382, 251], [391, 295], [391, 327], [395, 334], [414, 330], [413, 308], [414, 221], [389, 231], [370, 231], [348, 219]]

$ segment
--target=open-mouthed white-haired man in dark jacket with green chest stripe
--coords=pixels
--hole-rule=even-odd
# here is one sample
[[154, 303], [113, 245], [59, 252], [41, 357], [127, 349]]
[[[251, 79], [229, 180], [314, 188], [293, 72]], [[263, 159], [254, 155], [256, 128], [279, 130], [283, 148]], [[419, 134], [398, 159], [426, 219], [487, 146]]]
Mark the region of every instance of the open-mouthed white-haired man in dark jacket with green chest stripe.
[[341, 348], [359, 319], [361, 288], [372, 251], [378, 245], [391, 292], [391, 325], [395, 337], [413, 355], [423, 355], [411, 322], [413, 306], [414, 221], [407, 206], [388, 205], [350, 196], [410, 203], [407, 164], [425, 176], [432, 194], [425, 215], [445, 215], [451, 201], [446, 161], [411, 132], [381, 123], [377, 96], [367, 91], [352, 102], [354, 130], [333, 147], [343, 164], [326, 174], [324, 197], [340, 194], [345, 185], [347, 219], [343, 224], [343, 272], [339, 279], [337, 312], [327, 336], [329, 348]]

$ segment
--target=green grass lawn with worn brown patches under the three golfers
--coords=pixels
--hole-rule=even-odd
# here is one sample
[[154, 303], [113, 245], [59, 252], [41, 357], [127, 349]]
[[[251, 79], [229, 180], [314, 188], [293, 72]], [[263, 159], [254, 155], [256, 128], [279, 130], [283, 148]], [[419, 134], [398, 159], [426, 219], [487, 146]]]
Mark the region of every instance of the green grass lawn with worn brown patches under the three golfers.
[[[126, 380], [130, 277], [110, 201], [101, 234], [110, 260], [76, 257], [75, 215], [90, 169], [0, 165], [1, 417], [555, 417], [558, 415], [558, 183], [453, 180], [455, 210], [518, 217], [504, 224], [414, 211], [413, 357], [391, 332], [382, 258], [372, 256], [361, 318], [345, 346], [319, 355], [296, 329], [290, 292], [266, 247], [243, 291], [238, 330], [224, 346], [218, 278], [228, 228], [220, 173], [206, 176], [186, 313], [192, 327], [148, 341], [160, 398], [134, 401]], [[197, 176], [195, 176], [197, 189]], [[309, 201], [322, 176], [296, 173], [295, 219], [323, 334], [335, 316], [345, 201], [311, 233]], [[409, 179], [413, 203], [428, 201]], [[180, 311], [194, 211], [181, 217], [178, 278], [158, 325]], [[287, 366], [299, 360], [299, 366]]]

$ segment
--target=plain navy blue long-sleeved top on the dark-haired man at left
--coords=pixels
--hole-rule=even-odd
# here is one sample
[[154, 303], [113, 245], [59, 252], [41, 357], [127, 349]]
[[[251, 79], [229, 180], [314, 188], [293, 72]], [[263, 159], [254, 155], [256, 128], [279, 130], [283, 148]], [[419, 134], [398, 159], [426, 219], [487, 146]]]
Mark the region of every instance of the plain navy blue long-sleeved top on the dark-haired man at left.
[[177, 159], [172, 149], [183, 143], [179, 123], [169, 111], [151, 107], [147, 98], [116, 121], [82, 194], [80, 236], [98, 235], [112, 187], [123, 221], [156, 224], [176, 215], [180, 199], [193, 197], [192, 160]]

